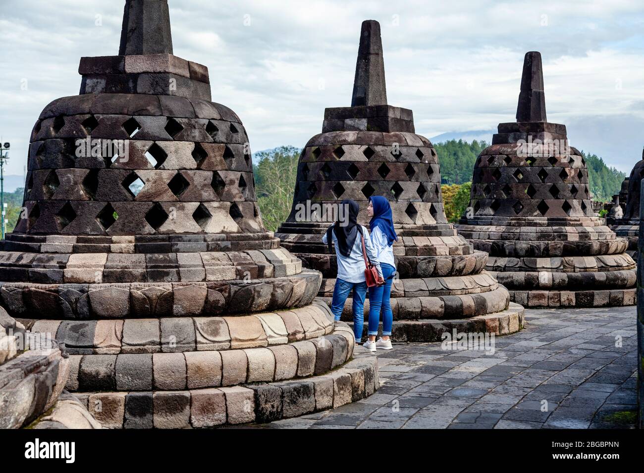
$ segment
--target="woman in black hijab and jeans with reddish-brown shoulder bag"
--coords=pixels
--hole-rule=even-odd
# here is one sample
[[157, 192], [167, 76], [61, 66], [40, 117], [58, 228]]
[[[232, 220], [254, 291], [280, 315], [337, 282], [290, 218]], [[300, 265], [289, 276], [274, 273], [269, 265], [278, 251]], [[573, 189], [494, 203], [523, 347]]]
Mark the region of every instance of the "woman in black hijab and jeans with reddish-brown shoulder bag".
[[354, 313], [354, 335], [355, 342], [363, 337], [363, 324], [365, 322], [365, 258], [362, 251], [362, 237], [365, 240], [366, 255], [369, 261], [377, 268], [380, 277], [383, 271], [380, 268], [378, 257], [371, 245], [367, 229], [357, 223], [359, 205], [351, 199], [345, 199], [340, 203], [337, 215], [338, 219], [328, 228], [322, 243], [328, 245], [329, 253], [333, 250], [331, 245], [336, 246], [337, 278], [333, 290], [333, 301], [331, 311], [336, 320], [340, 320], [342, 310], [349, 294], [353, 291], [353, 313]]

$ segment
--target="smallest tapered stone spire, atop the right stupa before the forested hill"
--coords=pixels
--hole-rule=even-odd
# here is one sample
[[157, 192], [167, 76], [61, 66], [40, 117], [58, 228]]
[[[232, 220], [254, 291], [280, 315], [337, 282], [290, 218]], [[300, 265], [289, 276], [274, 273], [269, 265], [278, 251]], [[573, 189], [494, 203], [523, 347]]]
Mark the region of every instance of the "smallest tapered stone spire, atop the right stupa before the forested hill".
[[517, 122], [545, 122], [544, 69], [541, 53], [529, 51], [524, 59], [521, 92], [516, 107]]

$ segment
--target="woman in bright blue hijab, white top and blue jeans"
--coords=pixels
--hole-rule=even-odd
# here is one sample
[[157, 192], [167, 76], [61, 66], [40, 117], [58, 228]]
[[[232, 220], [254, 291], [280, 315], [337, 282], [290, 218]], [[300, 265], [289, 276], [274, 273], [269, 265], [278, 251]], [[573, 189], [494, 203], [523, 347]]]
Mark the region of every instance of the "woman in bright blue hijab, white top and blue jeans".
[[[393, 275], [396, 272], [393, 260], [393, 242], [398, 239], [398, 236], [393, 229], [392, 207], [389, 205], [389, 201], [382, 196], [373, 196], [369, 200], [367, 211], [371, 217], [369, 222], [371, 243], [383, 270], [384, 284], [369, 288], [369, 329], [367, 332], [369, 339], [363, 346], [371, 351], [375, 351], [377, 348], [390, 350], [392, 349], [390, 335], [392, 335], [393, 325], [390, 295]], [[383, 315], [383, 336], [376, 342], [375, 337], [378, 335], [381, 313]]]

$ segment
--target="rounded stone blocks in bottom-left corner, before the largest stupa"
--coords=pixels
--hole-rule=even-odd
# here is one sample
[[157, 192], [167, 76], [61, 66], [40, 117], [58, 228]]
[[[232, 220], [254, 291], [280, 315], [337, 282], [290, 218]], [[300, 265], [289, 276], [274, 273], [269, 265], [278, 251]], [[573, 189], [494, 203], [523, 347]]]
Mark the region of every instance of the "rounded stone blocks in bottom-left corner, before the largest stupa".
[[63, 391], [69, 368], [64, 345], [26, 331], [0, 308], [0, 429], [100, 429]]

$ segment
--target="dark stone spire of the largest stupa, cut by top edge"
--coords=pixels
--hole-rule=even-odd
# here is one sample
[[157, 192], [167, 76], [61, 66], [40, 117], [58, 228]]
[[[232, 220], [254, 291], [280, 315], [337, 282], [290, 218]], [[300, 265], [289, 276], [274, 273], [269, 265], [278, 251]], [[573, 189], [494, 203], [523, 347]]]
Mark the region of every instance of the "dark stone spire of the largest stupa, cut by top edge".
[[126, 0], [118, 55], [172, 53], [167, 0]]

